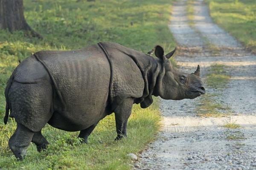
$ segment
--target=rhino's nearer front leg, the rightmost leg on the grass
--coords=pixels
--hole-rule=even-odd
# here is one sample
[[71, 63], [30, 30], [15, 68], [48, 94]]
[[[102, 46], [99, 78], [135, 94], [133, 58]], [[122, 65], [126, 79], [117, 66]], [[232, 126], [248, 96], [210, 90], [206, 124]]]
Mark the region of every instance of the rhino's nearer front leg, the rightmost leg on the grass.
[[115, 110], [115, 119], [116, 119], [116, 139], [120, 140], [126, 136], [126, 126], [128, 118], [131, 115], [131, 108], [134, 100], [129, 98], [125, 99], [121, 105], [119, 105]]

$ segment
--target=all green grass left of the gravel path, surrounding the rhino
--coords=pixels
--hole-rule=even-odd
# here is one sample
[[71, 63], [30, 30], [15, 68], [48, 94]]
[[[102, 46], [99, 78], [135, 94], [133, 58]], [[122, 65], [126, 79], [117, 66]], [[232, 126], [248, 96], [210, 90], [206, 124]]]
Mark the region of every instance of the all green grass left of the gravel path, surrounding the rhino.
[[[0, 119], [3, 120], [5, 113], [4, 88], [18, 59], [40, 50], [78, 49], [100, 41], [118, 42], [143, 52], [158, 44], [167, 53], [175, 47], [167, 26], [170, 4], [169, 0], [24, 0], [27, 22], [44, 39], [27, 37], [22, 31], [11, 34], [0, 30]], [[47, 125], [42, 133], [50, 142], [48, 150], [38, 153], [31, 144], [24, 161], [16, 161], [8, 147], [15, 121], [9, 119], [7, 125], [1, 121], [0, 169], [131, 169], [127, 153], [140, 153], [155, 138], [159, 121], [157, 102], [147, 109], [134, 105], [128, 138], [113, 141], [116, 132], [111, 115], [97, 125], [89, 144], [80, 144], [76, 138], [78, 132], [69, 133]]]

